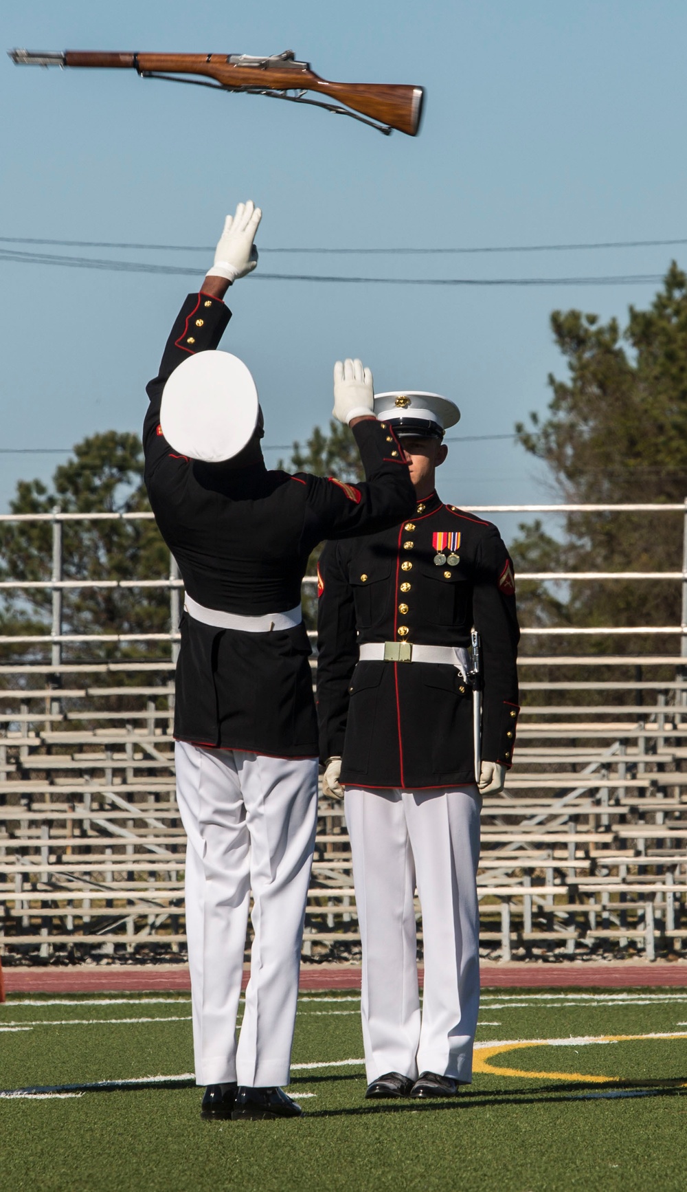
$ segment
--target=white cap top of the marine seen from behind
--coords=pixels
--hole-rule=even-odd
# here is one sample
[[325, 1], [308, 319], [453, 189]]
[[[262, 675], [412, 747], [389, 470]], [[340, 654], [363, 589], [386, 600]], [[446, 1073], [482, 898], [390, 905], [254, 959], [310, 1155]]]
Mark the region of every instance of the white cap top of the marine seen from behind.
[[160, 424], [180, 455], [220, 464], [243, 451], [257, 414], [257, 389], [243, 360], [230, 352], [199, 352], [167, 381]]

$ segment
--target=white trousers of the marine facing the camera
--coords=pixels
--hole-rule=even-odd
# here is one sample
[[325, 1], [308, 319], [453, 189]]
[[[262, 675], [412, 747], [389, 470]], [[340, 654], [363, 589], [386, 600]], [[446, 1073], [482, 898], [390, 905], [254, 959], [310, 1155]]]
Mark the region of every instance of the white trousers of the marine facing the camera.
[[[435, 1072], [469, 1082], [480, 1006], [475, 786], [346, 788], [345, 818], [362, 937], [368, 1082]], [[420, 1016], [413, 895], [423, 912]]]

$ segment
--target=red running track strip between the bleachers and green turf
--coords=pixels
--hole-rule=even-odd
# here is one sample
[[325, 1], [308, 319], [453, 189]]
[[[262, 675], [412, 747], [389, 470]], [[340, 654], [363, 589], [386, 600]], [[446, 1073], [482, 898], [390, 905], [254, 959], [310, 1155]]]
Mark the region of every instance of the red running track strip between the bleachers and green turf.
[[[185, 964], [133, 966], [85, 964], [69, 968], [5, 968], [5, 993], [160, 993], [189, 991], [188, 969]], [[421, 974], [420, 974], [421, 980]], [[244, 973], [244, 987], [248, 973]], [[326, 989], [360, 989], [361, 970], [348, 964], [304, 966], [300, 988], [312, 992]], [[623, 989], [637, 986], [687, 987], [687, 961], [673, 964], [562, 962], [482, 964], [481, 985], [489, 988], [517, 989]]]

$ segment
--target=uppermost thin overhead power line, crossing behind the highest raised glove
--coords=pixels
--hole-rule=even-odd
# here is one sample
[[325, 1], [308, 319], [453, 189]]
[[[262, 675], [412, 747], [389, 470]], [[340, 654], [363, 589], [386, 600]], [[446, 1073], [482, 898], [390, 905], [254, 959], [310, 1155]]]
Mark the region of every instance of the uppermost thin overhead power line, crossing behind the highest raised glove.
[[[137, 248], [163, 253], [214, 253], [214, 244], [138, 244], [107, 240], [43, 240], [35, 236], [0, 236], [2, 244], [52, 244], [61, 248]], [[687, 244], [683, 240], [608, 240], [574, 244], [487, 244], [476, 248], [262, 248], [261, 253], [317, 253], [336, 255], [426, 256], [462, 253], [568, 253], [599, 248], [666, 248]]]

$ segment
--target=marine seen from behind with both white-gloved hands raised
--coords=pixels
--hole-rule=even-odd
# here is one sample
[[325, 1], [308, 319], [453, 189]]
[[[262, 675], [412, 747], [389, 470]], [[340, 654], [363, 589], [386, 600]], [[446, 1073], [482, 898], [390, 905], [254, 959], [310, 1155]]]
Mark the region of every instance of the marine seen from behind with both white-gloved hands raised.
[[371, 373], [358, 360], [337, 362], [335, 414], [352, 428], [366, 482], [267, 470], [252, 377], [236, 356], [212, 350], [231, 317], [226, 290], [257, 263], [261, 215], [246, 203], [226, 218], [214, 265], [186, 298], [148, 385], [143, 429], [150, 504], [185, 586], [176, 794], [188, 837], [195, 1076], [206, 1086], [208, 1118], [301, 1112], [281, 1087], [289, 1080], [317, 817], [301, 581], [323, 539], [382, 529], [413, 508], [407, 461], [374, 415]]

